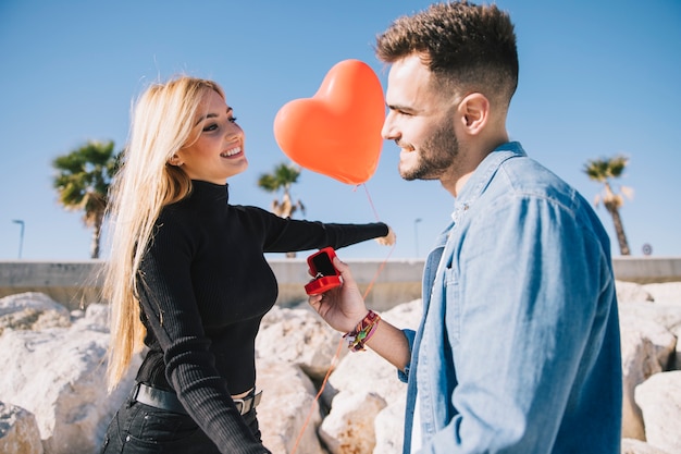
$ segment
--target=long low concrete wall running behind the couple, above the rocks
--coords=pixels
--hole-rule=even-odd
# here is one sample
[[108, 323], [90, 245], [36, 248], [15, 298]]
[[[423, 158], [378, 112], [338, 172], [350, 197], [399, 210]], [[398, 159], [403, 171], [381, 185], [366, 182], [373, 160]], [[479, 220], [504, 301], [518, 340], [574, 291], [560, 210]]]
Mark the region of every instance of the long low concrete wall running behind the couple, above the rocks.
[[[398, 303], [421, 297], [423, 260], [346, 260], [362, 292], [373, 282], [367, 304], [385, 310]], [[305, 259], [273, 259], [270, 265], [278, 280], [277, 304], [290, 306], [307, 300], [304, 285], [309, 281]], [[618, 257], [612, 260], [615, 277], [636, 283], [681, 281], [681, 257]], [[0, 261], [0, 297], [40, 292], [75, 309], [99, 302], [101, 261]]]

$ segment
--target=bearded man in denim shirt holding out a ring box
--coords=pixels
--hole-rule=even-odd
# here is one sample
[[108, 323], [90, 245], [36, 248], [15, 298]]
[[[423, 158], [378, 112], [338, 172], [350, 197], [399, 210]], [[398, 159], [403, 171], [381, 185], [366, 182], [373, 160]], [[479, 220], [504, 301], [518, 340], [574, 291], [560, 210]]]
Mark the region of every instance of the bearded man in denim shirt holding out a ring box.
[[383, 136], [407, 180], [438, 180], [451, 223], [423, 273], [423, 318], [400, 331], [349, 268], [310, 297], [408, 382], [404, 452], [620, 452], [621, 367], [609, 240], [573, 188], [509, 143], [513, 26], [495, 5], [435, 4], [377, 39], [392, 64]]

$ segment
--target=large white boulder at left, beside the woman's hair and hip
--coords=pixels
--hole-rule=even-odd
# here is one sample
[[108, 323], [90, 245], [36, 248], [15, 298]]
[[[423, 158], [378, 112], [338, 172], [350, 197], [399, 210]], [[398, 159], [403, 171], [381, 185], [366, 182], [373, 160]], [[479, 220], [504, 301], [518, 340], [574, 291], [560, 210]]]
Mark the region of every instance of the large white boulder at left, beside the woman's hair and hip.
[[91, 454], [115, 409], [132, 386], [131, 369], [121, 386], [107, 394], [109, 334], [52, 328], [7, 331], [0, 336], [0, 364], [15, 365], [0, 376], [0, 401], [32, 412], [49, 454]]

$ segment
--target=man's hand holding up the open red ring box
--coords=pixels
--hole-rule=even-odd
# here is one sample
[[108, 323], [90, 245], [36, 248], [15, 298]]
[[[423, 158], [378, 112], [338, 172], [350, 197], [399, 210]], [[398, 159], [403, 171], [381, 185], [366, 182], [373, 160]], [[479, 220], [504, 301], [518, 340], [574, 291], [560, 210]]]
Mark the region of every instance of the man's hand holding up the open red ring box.
[[367, 315], [367, 306], [357, 282], [350, 273], [350, 267], [334, 258], [333, 265], [340, 273], [343, 283], [339, 287], [319, 295], [310, 295], [308, 302], [331, 328], [340, 332], [349, 332], [357, 327]]

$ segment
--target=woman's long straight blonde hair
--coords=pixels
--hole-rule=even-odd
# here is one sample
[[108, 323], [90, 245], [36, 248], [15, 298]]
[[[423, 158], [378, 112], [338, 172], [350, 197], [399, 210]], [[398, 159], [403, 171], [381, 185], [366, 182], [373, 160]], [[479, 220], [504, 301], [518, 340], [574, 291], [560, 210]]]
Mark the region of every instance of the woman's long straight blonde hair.
[[224, 91], [214, 82], [177, 76], [153, 84], [136, 102], [123, 165], [110, 192], [110, 259], [104, 268], [103, 298], [111, 305], [111, 343], [107, 371], [109, 390], [126, 373], [144, 346], [136, 289], [139, 266], [152, 241], [161, 209], [186, 197], [191, 181], [169, 160], [190, 139], [203, 97]]

